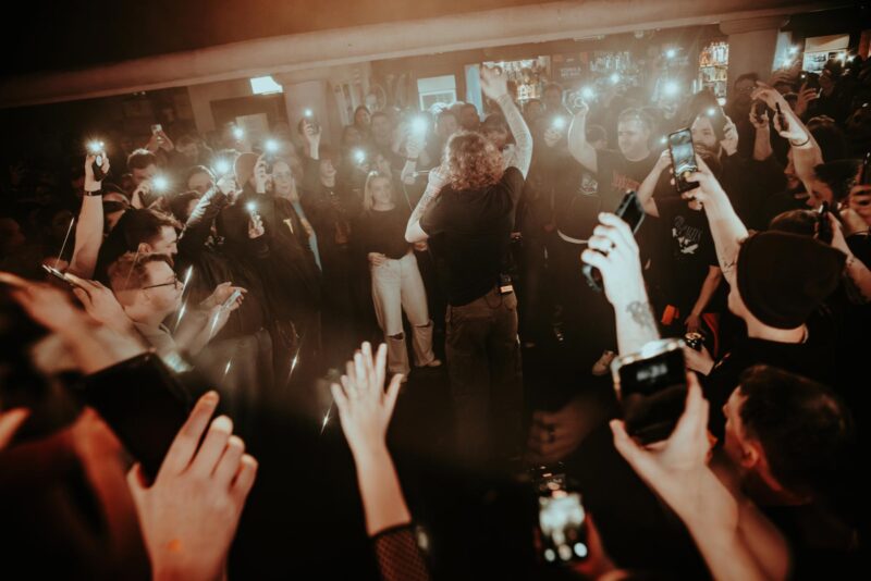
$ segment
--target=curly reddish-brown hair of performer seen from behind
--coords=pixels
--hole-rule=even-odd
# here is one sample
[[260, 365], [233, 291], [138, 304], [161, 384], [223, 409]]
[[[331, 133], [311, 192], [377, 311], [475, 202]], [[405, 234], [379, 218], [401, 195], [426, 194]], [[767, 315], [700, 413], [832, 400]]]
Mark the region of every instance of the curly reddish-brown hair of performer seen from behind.
[[457, 132], [444, 148], [447, 178], [456, 190], [481, 189], [502, 178], [502, 153], [477, 132]]

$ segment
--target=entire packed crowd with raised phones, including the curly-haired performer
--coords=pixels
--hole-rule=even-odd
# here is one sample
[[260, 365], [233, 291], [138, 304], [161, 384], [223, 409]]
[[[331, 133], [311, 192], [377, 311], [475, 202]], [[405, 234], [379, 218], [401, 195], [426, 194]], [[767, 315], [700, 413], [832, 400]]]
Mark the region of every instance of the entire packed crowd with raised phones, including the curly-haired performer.
[[[27, 569], [4, 567], [255, 574], [261, 543], [293, 553], [305, 531], [238, 529], [249, 493], [287, 529], [303, 491], [335, 506], [315, 483], [270, 504], [284, 483], [265, 416], [300, 442], [338, 416], [371, 540], [359, 577], [861, 570], [871, 61], [748, 73], [722, 108], [709, 91], [654, 103], [616, 85], [566, 103], [556, 84], [518, 107], [488, 67], [481, 88], [483, 115], [360, 107], [339, 147], [307, 114], [260, 143], [90, 135], [66, 175], [10, 162], [0, 529], [4, 561]], [[666, 144], [682, 128], [696, 163], [677, 175]], [[614, 213], [627, 191], [637, 232]], [[686, 398], [649, 444], [611, 374], [661, 337], [686, 338]], [[508, 493], [479, 499], [486, 516], [447, 510], [428, 549], [416, 506], [438, 481], [400, 479], [388, 447], [397, 401], [421, 388], [446, 394], [445, 471], [564, 473], [560, 492], [579, 490], [587, 511], [582, 554], [554, 568], [535, 523], [493, 516], [525, 515]], [[347, 458], [333, 452], [326, 462]], [[458, 532], [503, 524], [522, 531], [511, 551]], [[364, 531], [329, 534], [342, 552]]]

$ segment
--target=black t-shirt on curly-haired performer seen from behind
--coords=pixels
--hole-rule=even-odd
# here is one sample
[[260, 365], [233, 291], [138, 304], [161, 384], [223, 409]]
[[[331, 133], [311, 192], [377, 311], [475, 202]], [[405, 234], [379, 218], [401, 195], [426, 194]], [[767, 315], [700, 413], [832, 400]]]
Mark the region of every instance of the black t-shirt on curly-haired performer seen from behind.
[[484, 189], [445, 187], [420, 219], [420, 227], [432, 238], [433, 254], [444, 262], [451, 305], [467, 305], [499, 283], [523, 188], [524, 176], [512, 166]]

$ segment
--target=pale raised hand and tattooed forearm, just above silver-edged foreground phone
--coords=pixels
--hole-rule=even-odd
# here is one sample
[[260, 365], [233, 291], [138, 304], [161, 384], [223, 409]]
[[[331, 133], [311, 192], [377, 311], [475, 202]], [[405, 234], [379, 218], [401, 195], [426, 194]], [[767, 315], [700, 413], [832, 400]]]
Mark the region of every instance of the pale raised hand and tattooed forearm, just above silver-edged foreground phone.
[[605, 295], [614, 306], [621, 355], [638, 353], [660, 338], [645, 288], [638, 245], [628, 224], [614, 214], [600, 214], [581, 260], [602, 273]]

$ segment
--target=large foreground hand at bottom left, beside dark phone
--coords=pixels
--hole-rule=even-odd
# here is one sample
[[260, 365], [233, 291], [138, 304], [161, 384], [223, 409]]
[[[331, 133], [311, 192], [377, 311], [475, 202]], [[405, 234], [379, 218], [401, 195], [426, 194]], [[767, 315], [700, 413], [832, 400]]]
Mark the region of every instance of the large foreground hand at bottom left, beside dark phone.
[[214, 392], [199, 398], [150, 486], [140, 465], [127, 474], [154, 579], [214, 580], [225, 574], [257, 461], [232, 435], [230, 418], [211, 419], [217, 406]]

